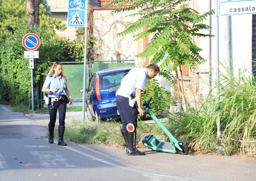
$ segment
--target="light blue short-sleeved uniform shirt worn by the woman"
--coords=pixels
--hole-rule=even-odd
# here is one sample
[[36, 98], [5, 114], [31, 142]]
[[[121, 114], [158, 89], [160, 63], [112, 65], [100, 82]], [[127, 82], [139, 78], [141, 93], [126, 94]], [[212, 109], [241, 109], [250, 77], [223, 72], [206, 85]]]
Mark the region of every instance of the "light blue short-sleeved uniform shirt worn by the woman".
[[48, 97], [59, 97], [60, 95], [64, 95], [64, 89], [68, 88], [67, 82], [64, 82], [61, 75], [60, 78], [58, 78], [55, 76], [55, 74], [48, 75], [46, 77], [43, 87], [50, 90], [60, 88], [60, 90], [57, 93], [49, 92]]

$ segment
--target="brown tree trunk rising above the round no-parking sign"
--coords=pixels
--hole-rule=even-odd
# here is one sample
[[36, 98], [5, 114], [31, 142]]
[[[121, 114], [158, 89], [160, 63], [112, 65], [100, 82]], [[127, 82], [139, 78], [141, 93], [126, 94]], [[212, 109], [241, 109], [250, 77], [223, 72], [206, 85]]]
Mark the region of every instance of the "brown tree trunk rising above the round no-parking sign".
[[39, 0], [27, 0], [27, 25], [39, 25]]

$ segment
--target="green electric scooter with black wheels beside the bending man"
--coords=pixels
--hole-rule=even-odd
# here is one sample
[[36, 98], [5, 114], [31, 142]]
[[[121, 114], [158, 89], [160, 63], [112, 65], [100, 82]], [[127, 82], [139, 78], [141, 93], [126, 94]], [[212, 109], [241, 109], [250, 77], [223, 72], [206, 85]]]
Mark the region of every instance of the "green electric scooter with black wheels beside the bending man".
[[[151, 99], [150, 99], [151, 100]], [[160, 142], [154, 135], [147, 135], [142, 139], [142, 143], [148, 148], [167, 152], [167, 153], [179, 153], [182, 155], [188, 154], [188, 146], [182, 142], [176, 140], [176, 138], [168, 131], [168, 129], [161, 123], [158, 118], [150, 111], [151, 104], [150, 100], [143, 104], [143, 109], [150, 115], [150, 117], [160, 126], [161, 129], [166, 133], [169, 137], [169, 142]]]

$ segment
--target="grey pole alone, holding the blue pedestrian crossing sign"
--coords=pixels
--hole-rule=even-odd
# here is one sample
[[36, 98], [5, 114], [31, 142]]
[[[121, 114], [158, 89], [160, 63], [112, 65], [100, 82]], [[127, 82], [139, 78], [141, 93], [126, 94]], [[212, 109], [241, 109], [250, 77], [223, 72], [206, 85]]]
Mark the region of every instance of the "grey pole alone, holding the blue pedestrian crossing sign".
[[86, 94], [86, 60], [87, 60], [87, 32], [88, 32], [88, 1], [85, 3], [85, 31], [84, 31], [84, 86], [83, 86], [83, 108], [82, 120], [85, 120], [85, 94]]

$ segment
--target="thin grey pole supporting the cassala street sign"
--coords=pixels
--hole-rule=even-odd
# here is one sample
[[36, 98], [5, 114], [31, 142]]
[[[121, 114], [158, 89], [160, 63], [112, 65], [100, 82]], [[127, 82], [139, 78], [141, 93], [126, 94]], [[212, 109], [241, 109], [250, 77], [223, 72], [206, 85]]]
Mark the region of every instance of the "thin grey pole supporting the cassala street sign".
[[[219, 1], [215, 1], [215, 15], [216, 15], [216, 19], [215, 19], [215, 23], [216, 23], [216, 30], [215, 30], [215, 45], [216, 45], [216, 50], [215, 50], [215, 63], [216, 63], [216, 67], [215, 67], [215, 71], [216, 71], [216, 88], [217, 88], [217, 93], [216, 93], [216, 103], [217, 106], [219, 104], [219, 7], [218, 7]], [[218, 107], [217, 107], [218, 109]], [[220, 116], [218, 116], [217, 118], [217, 136], [219, 138], [219, 136], [221, 135], [221, 118]]]

